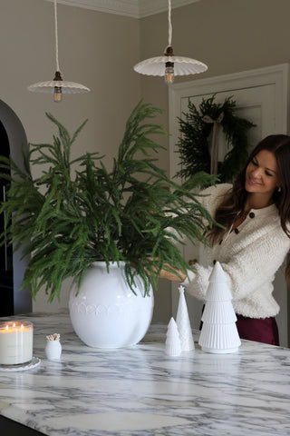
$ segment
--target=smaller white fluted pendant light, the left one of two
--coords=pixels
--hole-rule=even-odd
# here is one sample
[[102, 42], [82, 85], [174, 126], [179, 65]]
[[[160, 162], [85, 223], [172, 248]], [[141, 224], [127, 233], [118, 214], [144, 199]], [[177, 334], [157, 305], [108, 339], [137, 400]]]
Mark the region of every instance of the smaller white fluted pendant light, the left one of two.
[[59, 103], [62, 101], [63, 94], [81, 94], [88, 93], [89, 88], [83, 84], [76, 84], [75, 82], [63, 81], [63, 77], [58, 62], [58, 32], [57, 32], [57, 7], [56, 0], [54, 0], [54, 28], [55, 28], [55, 61], [56, 72], [53, 80], [48, 82], [38, 82], [37, 84], [31, 84], [27, 87], [28, 91], [33, 93], [53, 93], [54, 102]]

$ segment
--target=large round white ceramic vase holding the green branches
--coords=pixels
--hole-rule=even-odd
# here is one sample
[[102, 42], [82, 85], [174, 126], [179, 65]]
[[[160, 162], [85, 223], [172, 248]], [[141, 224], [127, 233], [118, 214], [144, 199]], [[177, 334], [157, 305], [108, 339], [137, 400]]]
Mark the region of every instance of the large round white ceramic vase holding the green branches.
[[94, 348], [121, 348], [140, 342], [153, 313], [153, 291], [144, 297], [143, 282], [135, 279], [135, 295], [126, 281], [124, 263], [95, 262], [85, 273], [77, 293], [73, 282], [69, 312], [74, 332]]

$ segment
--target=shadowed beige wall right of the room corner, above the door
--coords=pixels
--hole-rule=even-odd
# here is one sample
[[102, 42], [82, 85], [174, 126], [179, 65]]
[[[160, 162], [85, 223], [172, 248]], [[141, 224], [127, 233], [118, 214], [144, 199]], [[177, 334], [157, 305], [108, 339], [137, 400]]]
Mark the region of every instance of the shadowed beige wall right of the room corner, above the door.
[[[290, 61], [289, 0], [201, 0], [172, 10], [174, 54], [208, 64], [208, 72], [177, 77], [192, 81]], [[168, 45], [167, 13], [140, 20], [140, 60], [159, 56]], [[141, 76], [141, 94], [165, 113], [168, 128], [168, 88], [163, 78]], [[169, 144], [166, 138], [163, 144]], [[169, 171], [169, 153], [160, 166]], [[169, 320], [169, 283], [161, 282], [158, 316]]]

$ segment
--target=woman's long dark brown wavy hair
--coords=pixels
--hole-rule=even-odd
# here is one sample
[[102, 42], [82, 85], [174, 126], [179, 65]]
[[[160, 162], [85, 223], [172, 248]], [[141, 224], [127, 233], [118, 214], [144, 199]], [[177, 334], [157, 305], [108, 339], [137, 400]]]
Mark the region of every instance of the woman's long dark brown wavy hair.
[[[278, 177], [280, 180], [280, 190], [275, 190], [273, 201], [278, 209], [281, 220], [281, 227], [285, 234], [290, 238], [290, 136], [286, 134], [270, 134], [258, 143], [247, 159], [247, 163], [241, 173], [238, 174], [236, 182], [231, 190], [223, 197], [218, 205], [215, 219], [218, 223], [225, 226], [226, 230], [213, 226], [208, 233], [210, 243], [213, 245], [219, 243], [224, 234], [230, 229], [231, 224], [237, 217], [237, 213], [243, 212], [247, 200], [247, 191], [245, 189], [247, 165], [256, 154], [262, 150], [267, 150], [275, 155]], [[286, 281], [290, 283], [290, 260], [288, 254], [288, 263], [286, 266]]]

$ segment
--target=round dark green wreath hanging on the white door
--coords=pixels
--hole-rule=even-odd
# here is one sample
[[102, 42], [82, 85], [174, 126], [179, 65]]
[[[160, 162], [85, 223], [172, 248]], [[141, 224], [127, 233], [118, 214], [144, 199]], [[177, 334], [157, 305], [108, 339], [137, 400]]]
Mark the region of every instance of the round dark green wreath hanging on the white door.
[[[235, 114], [236, 102], [232, 96], [227, 97], [224, 104], [215, 103], [216, 94], [203, 99], [199, 110], [189, 101], [189, 113], [185, 120], [179, 118], [179, 154], [181, 170], [177, 175], [190, 178], [200, 171], [218, 173], [219, 182], [232, 182], [247, 160], [247, 130], [255, 124]], [[218, 162], [216, 155], [215, 171], [213, 171], [212, 153], [209, 138], [215, 134], [218, 124], [226, 135], [227, 144], [232, 148], [227, 152], [223, 162]], [[217, 145], [216, 145], [217, 147]]]

